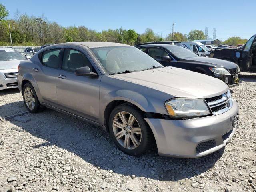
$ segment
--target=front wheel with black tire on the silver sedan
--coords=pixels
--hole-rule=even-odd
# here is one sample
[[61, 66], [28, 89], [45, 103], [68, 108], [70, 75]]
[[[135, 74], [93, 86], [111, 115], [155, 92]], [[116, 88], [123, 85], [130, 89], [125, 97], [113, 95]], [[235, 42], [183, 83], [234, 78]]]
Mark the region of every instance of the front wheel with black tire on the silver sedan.
[[129, 155], [148, 151], [152, 133], [140, 110], [128, 104], [114, 108], [109, 118], [110, 137], [116, 146]]

